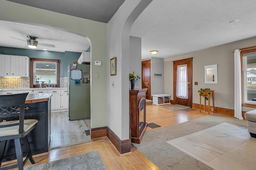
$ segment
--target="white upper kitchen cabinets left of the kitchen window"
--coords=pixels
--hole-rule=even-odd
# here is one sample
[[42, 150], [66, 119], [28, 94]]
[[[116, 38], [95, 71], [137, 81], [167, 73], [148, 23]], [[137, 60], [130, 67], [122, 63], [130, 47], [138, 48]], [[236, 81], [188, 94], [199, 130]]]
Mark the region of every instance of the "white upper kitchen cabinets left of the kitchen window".
[[0, 55], [0, 76], [29, 77], [29, 58], [17, 55]]

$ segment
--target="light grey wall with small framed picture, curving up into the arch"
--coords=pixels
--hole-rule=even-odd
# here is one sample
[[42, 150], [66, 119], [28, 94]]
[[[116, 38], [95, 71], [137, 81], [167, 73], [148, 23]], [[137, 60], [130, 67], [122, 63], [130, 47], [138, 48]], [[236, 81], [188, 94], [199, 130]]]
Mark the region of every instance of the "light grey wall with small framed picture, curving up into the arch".
[[[125, 1], [108, 22], [108, 65], [116, 57], [116, 76], [107, 68], [108, 127], [121, 139], [129, 139], [129, 39], [133, 22], [152, 0]], [[115, 82], [112, 88], [112, 82]]]

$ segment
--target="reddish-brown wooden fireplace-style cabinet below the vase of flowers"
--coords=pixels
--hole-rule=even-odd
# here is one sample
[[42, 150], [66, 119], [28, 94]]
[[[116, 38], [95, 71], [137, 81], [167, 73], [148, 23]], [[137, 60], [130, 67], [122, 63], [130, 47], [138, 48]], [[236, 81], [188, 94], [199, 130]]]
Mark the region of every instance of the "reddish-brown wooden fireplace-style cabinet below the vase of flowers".
[[132, 143], [140, 143], [148, 123], [146, 123], [146, 91], [130, 90], [130, 139]]

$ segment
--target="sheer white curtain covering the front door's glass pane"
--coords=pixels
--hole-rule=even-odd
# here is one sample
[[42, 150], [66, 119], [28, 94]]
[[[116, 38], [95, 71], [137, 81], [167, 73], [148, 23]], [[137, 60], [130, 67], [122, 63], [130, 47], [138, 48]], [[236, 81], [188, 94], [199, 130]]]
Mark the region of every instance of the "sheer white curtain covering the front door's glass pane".
[[177, 69], [176, 96], [188, 99], [188, 69], [187, 64], [179, 65]]

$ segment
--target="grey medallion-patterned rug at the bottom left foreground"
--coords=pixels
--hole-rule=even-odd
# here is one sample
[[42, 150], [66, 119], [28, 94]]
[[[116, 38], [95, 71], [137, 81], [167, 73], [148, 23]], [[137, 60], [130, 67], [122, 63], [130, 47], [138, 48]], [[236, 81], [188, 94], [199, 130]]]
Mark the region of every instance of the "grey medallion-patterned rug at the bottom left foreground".
[[98, 151], [24, 168], [24, 170], [106, 170]]

